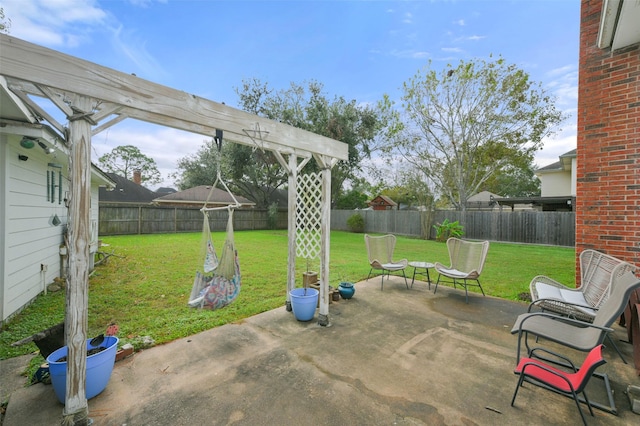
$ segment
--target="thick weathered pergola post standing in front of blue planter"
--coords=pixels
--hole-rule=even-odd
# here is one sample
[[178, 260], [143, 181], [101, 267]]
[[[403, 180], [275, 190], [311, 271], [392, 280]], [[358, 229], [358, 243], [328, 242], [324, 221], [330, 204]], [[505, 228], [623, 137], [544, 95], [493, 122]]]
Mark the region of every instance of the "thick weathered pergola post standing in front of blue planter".
[[63, 424], [87, 425], [85, 393], [87, 363], [87, 312], [89, 289], [89, 244], [91, 242], [91, 112], [89, 97], [74, 95], [69, 117], [69, 267], [67, 276], [65, 333], [68, 346], [67, 381]]

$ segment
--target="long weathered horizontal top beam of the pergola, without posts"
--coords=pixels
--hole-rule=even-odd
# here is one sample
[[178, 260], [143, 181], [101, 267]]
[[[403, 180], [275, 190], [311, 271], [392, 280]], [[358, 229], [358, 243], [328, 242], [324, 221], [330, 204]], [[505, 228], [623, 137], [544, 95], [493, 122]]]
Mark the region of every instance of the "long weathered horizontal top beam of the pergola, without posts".
[[0, 51], [5, 76], [141, 111], [153, 123], [208, 136], [220, 129], [225, 132], [226, 139], [252, 146], [254, 142], [246, 131], [256, 125], [262, 132], [265, 149], [307, 151], [339, 160], [348, 159], [344, 143], [6, 34], [0, 34]]

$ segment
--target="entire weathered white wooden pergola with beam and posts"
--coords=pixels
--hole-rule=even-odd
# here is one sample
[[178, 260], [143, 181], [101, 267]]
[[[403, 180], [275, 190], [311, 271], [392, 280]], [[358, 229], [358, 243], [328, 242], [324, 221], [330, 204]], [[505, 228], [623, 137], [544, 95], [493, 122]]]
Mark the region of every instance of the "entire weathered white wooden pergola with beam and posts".
[[[311, 159], [322, 174], [319, 323], [329, 324], [329, 231], [331, 169], [348, 159], [347, 145], [268, 120], [176, 89], [155, 84], [92, 62], [0, 34], [0, 75], [38, 117], [46, 120], [69, 149], [69, 268], [66, 341], [69, 348], [65, 424], [86, 424], [86, 339], [89, 280], [91, 137], [126, 118], [258, 146], [274, 153], [289, 176], [289, 290], [295, 287], [296, 185]], [[57, 122], [33, 97], [49, 99], [67, 117]]]

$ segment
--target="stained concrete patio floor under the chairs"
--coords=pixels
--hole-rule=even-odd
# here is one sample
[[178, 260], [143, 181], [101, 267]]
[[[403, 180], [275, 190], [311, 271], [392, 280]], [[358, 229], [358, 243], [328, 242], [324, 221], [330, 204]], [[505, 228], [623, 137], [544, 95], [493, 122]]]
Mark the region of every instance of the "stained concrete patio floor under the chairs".
[[[525, 304], [476, 293], [466, 304], [459, 289], [434, 295], [416, 281], [407, 290], [395, 277], [380, 291], [379, 280], [333, 302], [329, 327], [298, 322], [282, 307], [139, 352], [116, 363], [89, 416], [95, 425], [580, 423], [571, 399], [533, 385], [509, 405], [517, 381], [510, 329]], [[631, 359], [631, 345], [619, 346]], [[639, 383], [634, 368], [612, 348], [604, 355], [598, 371], [610, 377], [618, 415], [594, 410], [587, 421], [637, 423], [624, 393]], [[588, 391], [606, 402], [601, 381]], [[51, 386], [37, 384], [12, 394], [4, 424], [59, 424], [62, 410]]]

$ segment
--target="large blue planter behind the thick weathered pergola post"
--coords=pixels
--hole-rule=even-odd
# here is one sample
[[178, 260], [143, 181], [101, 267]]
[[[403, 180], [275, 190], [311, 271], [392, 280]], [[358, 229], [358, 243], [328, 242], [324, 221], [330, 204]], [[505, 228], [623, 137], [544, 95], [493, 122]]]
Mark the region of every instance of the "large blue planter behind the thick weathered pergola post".
[[[87, 339], [87, 350], [96, 347], [105, 347], [107, 349], [97, 354], [87, 357], [87, 383], [85, 393], [87, 399], [102, 392], [109, 383], [113, 365], [116, 362], [116, 352], [118, 349], [118, 338], [114, 336], [105, 336], [100, 346], [92, 346]], [[51, 376], [51, 384], [53, 390], [58, 397], [58, 401], [64, 404], [67, 391], [67, 362], [56, 362], [56, 360], [67, 356], [68, 347], [64, 346], [53, 351], [48, 357], [49, 375]]]

